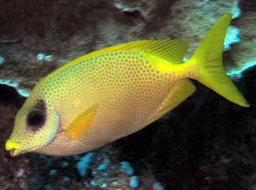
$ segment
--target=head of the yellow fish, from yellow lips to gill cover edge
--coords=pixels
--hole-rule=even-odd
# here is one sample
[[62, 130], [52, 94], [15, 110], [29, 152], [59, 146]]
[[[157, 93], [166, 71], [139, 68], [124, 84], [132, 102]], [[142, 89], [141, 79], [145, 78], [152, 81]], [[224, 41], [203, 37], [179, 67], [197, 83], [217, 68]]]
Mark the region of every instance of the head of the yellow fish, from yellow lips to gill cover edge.
[[51, 102], [39, 92], [32, 92], [15, 117], [15, 127], [6, 141], [11, 156], [37, 151], [55, 138], [60, 118]]

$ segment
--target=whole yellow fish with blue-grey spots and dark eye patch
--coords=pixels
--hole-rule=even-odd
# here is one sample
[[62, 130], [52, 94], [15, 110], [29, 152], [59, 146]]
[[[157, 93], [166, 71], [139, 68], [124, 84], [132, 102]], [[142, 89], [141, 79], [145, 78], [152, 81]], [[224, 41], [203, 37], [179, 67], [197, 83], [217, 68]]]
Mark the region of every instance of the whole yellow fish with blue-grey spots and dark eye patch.
[[188, 43], [133, 41], [81, 56], [42, 79], [15, 119], [11, 156], [80, 154], [134, 133], [193, 94], [196, 79], [233, 103], [248, 103], [222, 66], [232, 14], [223, 15], [186, 63]]

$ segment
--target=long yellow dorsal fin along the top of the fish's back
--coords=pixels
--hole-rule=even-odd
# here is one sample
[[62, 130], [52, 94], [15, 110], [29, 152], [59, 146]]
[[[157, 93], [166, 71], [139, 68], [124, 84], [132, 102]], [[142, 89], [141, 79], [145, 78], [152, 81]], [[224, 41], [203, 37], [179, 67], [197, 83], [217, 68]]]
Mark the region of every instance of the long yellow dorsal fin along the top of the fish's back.
[[181, 41], [178, 39], [175, 40], [166, 40], [166, 41], [156, 41], [156, 40], [141, 40], [141, 41], [132, 41], [130, 43], [125, 43], [121, 45], [115, 45], [112, 47], [107, 47], [102, 50], [91, 52], [84, 56], [73, 61], [81, 61], [82, 59], [88, 59], [93, 56], [98, 56], [99, 54], [105, 54], [110, 52], [118, 51], [142, 51], [147, 54], [152, 54], [158, 58], [165, 59], [174, 64], [182, 63], [185, 54], [188, 52], [188, 42]]

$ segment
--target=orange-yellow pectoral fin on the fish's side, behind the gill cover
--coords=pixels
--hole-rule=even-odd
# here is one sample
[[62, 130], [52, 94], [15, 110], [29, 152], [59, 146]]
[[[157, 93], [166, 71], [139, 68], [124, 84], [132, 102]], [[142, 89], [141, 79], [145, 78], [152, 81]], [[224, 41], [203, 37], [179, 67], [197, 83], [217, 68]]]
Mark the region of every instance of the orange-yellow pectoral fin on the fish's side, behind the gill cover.
[[64, 136], [75, 142], [81, 138], [86, 131], [91, 127], [93, 118], [97, 112], [98, 104], [92, 105], [89, 109], [78, 115], [67, 127], [64, 129]]

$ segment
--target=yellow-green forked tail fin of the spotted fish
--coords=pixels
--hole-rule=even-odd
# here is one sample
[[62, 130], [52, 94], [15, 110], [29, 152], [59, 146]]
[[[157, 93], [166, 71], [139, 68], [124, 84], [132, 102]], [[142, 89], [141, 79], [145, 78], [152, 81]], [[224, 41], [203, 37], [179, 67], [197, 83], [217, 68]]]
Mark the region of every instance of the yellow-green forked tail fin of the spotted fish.
[[249, 107], [244, 96], [227, 76], [222, 64], [223, 42], [231, 19], [231, 13], [224, 14], [212, 26], [194, 55], [187, 61], [193, 73], [190, 78], [195, 78], [233, 103]]

